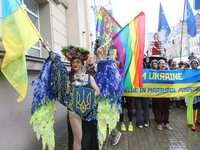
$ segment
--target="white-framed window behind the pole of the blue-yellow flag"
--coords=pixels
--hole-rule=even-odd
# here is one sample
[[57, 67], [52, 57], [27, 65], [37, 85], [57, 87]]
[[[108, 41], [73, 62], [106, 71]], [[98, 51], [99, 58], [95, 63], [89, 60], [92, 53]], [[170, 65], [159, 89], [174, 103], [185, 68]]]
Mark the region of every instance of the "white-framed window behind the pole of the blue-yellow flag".
[[[30, 20], [39, 32], [39, 11], [38, 5], [33, 0], [20, 0], [22, 7], [26, 11]], [[41, 57], [40, 42], [37, 42], [31, 49], [26, 52], [26, 55]]]

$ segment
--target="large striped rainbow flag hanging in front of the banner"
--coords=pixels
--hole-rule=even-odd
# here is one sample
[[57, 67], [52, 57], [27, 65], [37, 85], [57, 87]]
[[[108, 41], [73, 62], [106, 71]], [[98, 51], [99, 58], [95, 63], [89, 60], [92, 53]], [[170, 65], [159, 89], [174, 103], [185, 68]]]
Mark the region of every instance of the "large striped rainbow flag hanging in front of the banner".
[[120, 75], [123, 90], [142, 87], [142, 68], [145, 44], [145, 14], [141, 12], [114, 37], [121, 61]]

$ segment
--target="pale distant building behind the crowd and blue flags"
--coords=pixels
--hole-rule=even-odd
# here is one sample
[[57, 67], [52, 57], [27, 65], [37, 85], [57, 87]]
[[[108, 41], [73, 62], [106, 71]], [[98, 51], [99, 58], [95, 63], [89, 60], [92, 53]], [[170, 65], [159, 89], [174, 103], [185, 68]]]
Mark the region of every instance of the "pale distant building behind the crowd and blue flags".
[[200, 14], [197, 13], [195, 18], [197, 20], [197, 35], [194, 38], [187, 34], [187, 23], [182, 22], [182, 20], [171, 27], [171, 33], [165, 45], [168, 59], [180, 57], [180, 55], [188, 57], [192, 52], [196, 56], [200, 55]]

